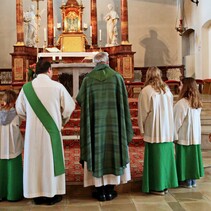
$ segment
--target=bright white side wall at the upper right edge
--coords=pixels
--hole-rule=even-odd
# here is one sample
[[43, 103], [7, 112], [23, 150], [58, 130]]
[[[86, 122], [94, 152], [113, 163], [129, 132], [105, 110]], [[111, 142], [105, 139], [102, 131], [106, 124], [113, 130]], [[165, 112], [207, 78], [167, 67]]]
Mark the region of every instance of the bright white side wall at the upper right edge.
[[211, 30], [211, 2], [199, 1], [198, 6], [191, 1], [185, 1], [186, 27], [194, 30], [195, 78], [211, 78], [210, 56], [211, 41], [208, 39]]

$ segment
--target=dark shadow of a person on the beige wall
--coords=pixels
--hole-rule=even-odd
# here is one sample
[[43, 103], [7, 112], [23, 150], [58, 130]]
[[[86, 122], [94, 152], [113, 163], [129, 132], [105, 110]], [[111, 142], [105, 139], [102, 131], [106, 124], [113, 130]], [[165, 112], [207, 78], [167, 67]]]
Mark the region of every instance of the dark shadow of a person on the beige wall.
[[150, 30], [149, 36], [140, 39], [139, 44], [145, 48], [145, 67], [170, 65], [169, 49], [163, 41], [158, 39], [155, 30]]

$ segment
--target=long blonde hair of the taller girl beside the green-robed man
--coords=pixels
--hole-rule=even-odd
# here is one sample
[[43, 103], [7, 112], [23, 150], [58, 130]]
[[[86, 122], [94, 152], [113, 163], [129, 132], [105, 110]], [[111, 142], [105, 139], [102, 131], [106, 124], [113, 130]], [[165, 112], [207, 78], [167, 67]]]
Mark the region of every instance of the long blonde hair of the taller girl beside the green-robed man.
[[156, 92], [164, 92], [166, 93], [166, 84], [163, 82], [162, 78], [161, 78], [161, 71], [159, 68], [157, 67], [150, 67], [147, 70], [147, 74], [146, 74], [146, 80], [145, 80], [145, 86], [147, 85], [151, 85], [152, 88], [154, 88], [154, 90]]

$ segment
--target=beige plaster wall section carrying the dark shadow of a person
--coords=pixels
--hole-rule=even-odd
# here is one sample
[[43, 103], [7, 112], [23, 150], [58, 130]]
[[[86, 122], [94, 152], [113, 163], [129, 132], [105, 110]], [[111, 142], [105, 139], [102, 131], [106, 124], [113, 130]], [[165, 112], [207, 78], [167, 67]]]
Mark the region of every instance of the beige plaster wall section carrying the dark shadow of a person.
[[174, 0], [129, 1], [129, 41], [136, 52], [135, 66], [181, 64], [176, 6]]

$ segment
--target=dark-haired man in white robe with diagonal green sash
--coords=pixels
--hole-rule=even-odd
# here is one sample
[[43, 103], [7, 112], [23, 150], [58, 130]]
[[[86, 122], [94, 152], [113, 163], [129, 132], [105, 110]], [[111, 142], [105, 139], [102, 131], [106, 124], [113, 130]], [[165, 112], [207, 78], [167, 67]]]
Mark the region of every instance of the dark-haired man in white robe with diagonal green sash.
[[51, 64], [40, 60], [37, 78], [26, 83], [16, 102], [26, 119], [24, 142], [24, 197], [52, 205], [66, 192], [61, 128], [75, 109], [65, 87], [53, 81]]

